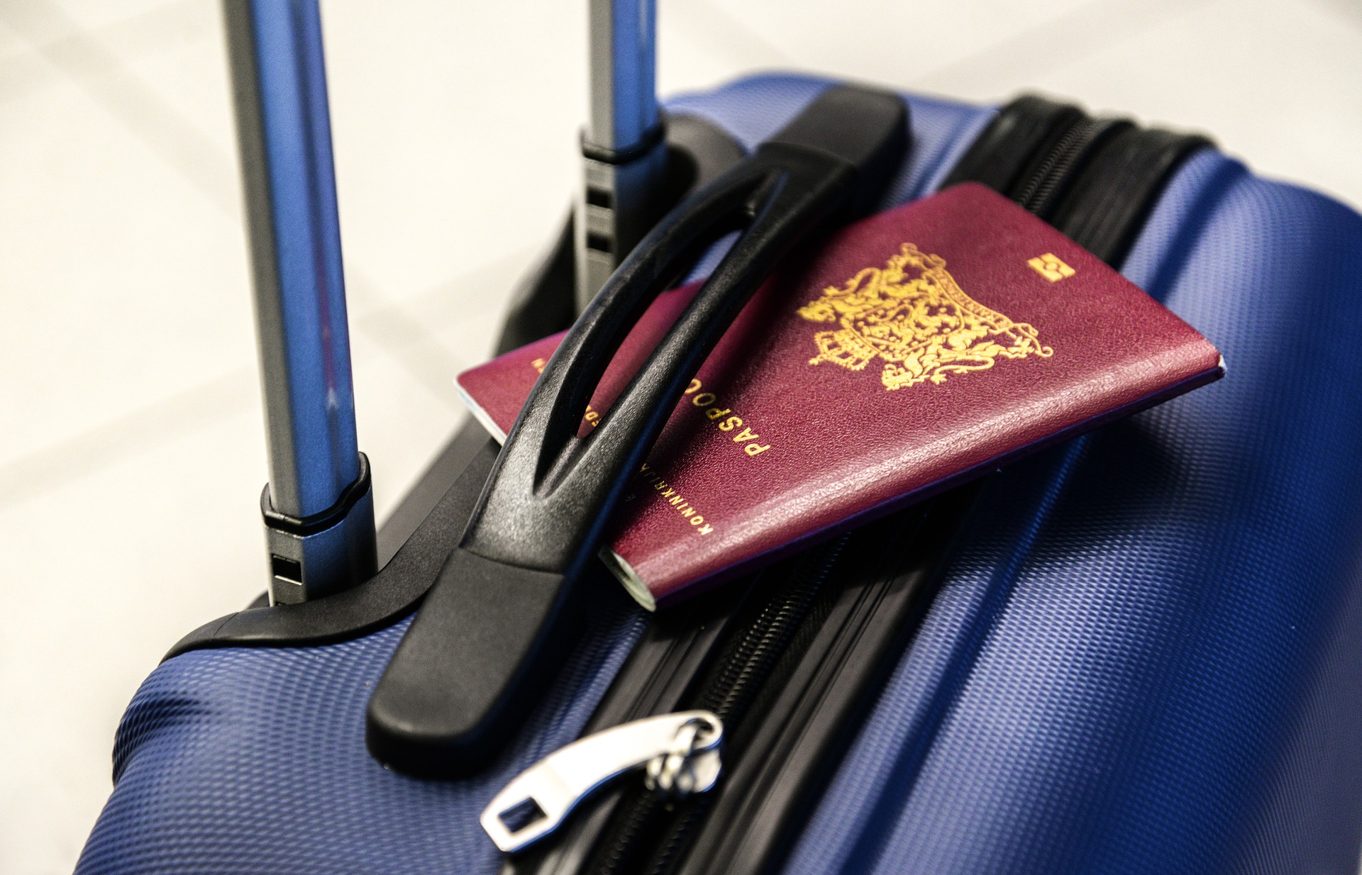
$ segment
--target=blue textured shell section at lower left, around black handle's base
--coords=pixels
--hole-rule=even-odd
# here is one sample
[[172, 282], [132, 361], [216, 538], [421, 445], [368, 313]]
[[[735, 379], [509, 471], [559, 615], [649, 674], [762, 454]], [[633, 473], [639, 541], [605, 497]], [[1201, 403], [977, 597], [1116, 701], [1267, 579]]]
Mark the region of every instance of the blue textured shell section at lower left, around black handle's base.
[[320, 648], [196, 650], [161, 665], [114, 747], [113, 796], [78, 872], [493, 872], [478, 815], [522, 769], [571, 742], [643, 629], [594, 621], [557, 686], [471, 781], [385, 772], [364, 710], [407, 622]]

